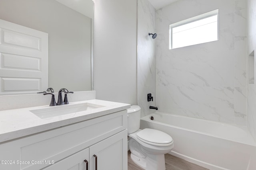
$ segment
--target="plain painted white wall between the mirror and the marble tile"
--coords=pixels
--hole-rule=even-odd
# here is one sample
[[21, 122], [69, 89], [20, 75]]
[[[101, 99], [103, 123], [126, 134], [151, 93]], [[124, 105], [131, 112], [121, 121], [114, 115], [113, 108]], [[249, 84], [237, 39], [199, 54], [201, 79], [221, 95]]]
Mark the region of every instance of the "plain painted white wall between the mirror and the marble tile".
[[136, 101], [136, 0], [94, 0], [96, 98]]

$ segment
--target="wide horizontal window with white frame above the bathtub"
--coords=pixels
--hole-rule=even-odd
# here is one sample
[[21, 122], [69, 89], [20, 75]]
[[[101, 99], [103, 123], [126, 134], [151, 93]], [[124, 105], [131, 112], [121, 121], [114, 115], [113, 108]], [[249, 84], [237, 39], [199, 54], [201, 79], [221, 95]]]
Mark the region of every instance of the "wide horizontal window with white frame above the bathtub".
[[169, 31], [169, 49], [217, 41], [218, 10], [170, 24]]

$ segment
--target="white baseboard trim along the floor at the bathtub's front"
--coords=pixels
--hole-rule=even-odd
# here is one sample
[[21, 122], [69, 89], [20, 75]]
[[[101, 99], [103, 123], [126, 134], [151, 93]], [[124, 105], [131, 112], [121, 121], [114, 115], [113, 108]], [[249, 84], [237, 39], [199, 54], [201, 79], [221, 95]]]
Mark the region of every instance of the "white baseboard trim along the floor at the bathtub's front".
[[203, 162], [201, 160], [197, 160], [197, 159], [191, 158], [189, 156], [186, 156], [184, 154], [180, 154], [180, 153], [175, 152], [175, 151], [171, 151], [168, 154], [171, 154], [171, 155], [176, 156], [178, 158], [182, 158], [182, 159], [184, 159], [184, 160], [186, 160], [188, 162], [191, 162], [193, 164], [197, 164], [199, 166], [202, 166], [204, 168], [208, 168], [210, 170], [229, 170], [229, 169], [226, 169], [226, 168], [223, 168], [223, 167], [220, 167], [220, 166], [216, 166], [216, 165], [213, 165], [213, 164], [209, 164], [207, 162]]

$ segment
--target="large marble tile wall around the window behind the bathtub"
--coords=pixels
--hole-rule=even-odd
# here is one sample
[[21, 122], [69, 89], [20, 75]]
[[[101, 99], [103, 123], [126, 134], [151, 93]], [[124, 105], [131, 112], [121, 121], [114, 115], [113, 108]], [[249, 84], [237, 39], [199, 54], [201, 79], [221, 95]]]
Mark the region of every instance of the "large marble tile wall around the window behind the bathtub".
[[[219, 9], [219, 40], [169, 50], [169, 24]], [[246, 125], [246, 0], [179, 0], [157, 10], [156, 105]]]

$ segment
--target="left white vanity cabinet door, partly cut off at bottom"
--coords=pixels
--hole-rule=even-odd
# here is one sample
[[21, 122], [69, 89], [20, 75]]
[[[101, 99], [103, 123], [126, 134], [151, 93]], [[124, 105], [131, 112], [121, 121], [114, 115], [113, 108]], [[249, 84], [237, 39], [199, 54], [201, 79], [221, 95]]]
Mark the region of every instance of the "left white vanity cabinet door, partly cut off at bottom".
[[68, 156], [43, 170], [89, 170], [89, 148]]

